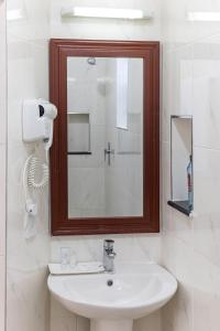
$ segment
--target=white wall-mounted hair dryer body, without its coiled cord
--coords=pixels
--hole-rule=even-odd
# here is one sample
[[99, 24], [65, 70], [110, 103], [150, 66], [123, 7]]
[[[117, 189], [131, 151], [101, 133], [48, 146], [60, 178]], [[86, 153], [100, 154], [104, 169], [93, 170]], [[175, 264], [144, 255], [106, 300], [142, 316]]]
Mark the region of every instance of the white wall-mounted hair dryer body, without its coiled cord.
[[48, 150], [53, 142], [53, 121], [57, 116], [56, 107], [43, 99], [23, 103], [23, 141], [43, 141]]

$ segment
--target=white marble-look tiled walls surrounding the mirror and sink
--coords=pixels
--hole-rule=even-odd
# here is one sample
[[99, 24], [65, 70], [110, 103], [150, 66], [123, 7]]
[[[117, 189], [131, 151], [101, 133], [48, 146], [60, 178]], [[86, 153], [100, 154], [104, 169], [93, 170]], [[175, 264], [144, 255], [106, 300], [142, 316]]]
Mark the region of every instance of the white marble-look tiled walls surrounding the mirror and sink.
[[[92, 6], [103, 6], [94, 0]], [[114, 0], [105, 6], [117, 7]], [[220, 23], [187, 21], [189, 11], [220, 11], [219, 1], [121, 0], [120, 7], [154, 10], [153, 22], [61, 20], [61, 6], [70, 0], [8, 0], [8, 10], [21, 9], [23, 18], [8, 23], [9, 135], [8, 135], [8, 331], [50, 329], [46, 265], [50, 259], [47, 194], [42, 200], [38, 236], [23, 238], [21, 170], [28, 149], [21, 142], [23, 98], [47, 98], [48, 38], [160, 40], [163, 32], [162, 109], [162, 263], [178, 279], [177, 296], [160, 313], [135, 322], [135, 331], [219, 331], [220, 317]], [[75, 4], [89, 6], [89, 0]], [[4, 273], [6, 220], [6, 58], [4, 2], [0, 4], [0, 277]], [[163, 9], [160, 18], [160, 4]], [[51, 29], [51, 33], [50, 33]], [[3, 92], [3, 93], [2, 93]], [[170, 196], [169, 117], [194, 116], [195, 217], [167, 206]], [[2, 189], [3, 188], [3, 189]], [[70, 246], [80, 260], [100, 259], [103, 236], [58, 237], [51, 241], [51, 258]], [[158, 235], [123, 235], [116, 238], [118, 259], [161, 260]], [[4, 280], [0, 278], [0, 331], [3, 330]], [[67, 312], [51, 300], [51, 331], [87, 331], [86, 319]]]

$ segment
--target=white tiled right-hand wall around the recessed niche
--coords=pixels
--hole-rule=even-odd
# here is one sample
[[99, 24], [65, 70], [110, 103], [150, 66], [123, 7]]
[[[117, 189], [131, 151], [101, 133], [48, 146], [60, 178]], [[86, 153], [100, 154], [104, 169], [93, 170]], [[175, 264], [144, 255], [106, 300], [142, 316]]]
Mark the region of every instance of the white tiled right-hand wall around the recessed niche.
[[[179, 281], [163, 309], [163, 331], [218, 331], [220, 325], [220, 22], [187, 21], [220, 11], [219, 1], [164, 0], [162, 111], [162, 261]], [[195, 215], [167, 206], [169, 116], [194, 116]]]

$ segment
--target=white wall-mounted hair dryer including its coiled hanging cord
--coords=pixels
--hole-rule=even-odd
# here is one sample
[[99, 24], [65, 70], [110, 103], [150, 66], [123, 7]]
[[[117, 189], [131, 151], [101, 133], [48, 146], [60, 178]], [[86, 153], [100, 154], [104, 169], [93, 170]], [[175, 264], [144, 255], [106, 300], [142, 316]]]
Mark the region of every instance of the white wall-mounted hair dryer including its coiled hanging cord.
[[[23, 103], [23, 141], [33, 145], [33, 153], [28, 157], [23, 168], [23, 190], [25, 199], [24, 236], [36, 235], [37, 216], [36, 192], [44, 191], [50, 180], [48, 150], [53, 142], [53, 124], [57, 109], [43, 99]], [[41, 143], [46, 152], [46, 160], [40, 153]]]

